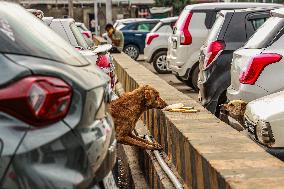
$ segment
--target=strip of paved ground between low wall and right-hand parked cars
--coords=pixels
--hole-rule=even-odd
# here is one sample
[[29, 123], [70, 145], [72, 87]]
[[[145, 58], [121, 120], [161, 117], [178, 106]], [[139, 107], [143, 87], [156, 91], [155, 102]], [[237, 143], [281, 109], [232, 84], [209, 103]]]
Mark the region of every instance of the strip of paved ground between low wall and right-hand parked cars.
[[153, 73], [157, 74], [162, 78], [163, 80], [167, 81], [170, 85], [175, 87], [180, 92], [190, 96], [194, 100], [198, 101], [198, 94], [194, 90], [192, 90], [190, 87], [179, 81], [174, 75], [172, 74], [158, 74], [153, 66], [146, 61], [143, 60], [143, 57], [139, 57], [138, 61], [140, 64], [144, 65], [147, 69], [152, 71]]

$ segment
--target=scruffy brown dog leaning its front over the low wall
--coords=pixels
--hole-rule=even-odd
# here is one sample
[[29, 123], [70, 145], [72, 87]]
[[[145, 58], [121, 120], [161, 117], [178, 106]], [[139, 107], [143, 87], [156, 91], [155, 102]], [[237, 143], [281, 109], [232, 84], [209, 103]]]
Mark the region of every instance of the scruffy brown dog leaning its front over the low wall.
[[148, 85], [125, 93], [110, 103], [110, 113], [114, 120], [118, 142], [138, 146], [143, 149], [161, 149], [158, 143], [152, 143], [135, 136], [132, 132], [141, 114], [152, 108], [162, 109], [167, 104], [160, 98], [159, 92]]

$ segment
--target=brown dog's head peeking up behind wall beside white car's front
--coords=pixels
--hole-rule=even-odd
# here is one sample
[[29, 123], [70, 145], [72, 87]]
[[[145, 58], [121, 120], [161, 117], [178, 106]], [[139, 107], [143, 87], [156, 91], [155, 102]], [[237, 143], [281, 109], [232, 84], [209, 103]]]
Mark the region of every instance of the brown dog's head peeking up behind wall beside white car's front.
[[[237, 120], [241, 125], [244, 125], [244, 114], [246, 111], [247, 103], [242, 100], [232, 100], [228, 104], [223, 104], [221, 106], [221, 112], [223, 115], [230, 116]], [[229, 123], [227, 118], [221, 118], [221, 120]], [[235, 128], [238, 131], [243, 130], [243, 128]]]

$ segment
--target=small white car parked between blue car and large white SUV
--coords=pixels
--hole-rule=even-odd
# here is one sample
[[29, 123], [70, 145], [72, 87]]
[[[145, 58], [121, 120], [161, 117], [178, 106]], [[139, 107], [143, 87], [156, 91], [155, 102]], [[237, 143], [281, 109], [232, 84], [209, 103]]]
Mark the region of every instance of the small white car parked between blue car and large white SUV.
[[146, 35], [144, 58], [153, 63], [155, 70], [169, 73], [167, 68], [168, 38], [173, 33], [173, 26], [178, 17], [164, 18]]

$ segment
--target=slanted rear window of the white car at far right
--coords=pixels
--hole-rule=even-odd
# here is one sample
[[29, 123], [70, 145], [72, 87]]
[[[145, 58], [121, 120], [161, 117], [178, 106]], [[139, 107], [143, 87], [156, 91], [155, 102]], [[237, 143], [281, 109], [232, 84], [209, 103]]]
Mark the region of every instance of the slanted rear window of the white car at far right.
[[279, 17], [269, 18], [248, 40], [245, 49], [261, 49], [267, 47], [274, 36], [284, 25], [284, 19]]

